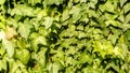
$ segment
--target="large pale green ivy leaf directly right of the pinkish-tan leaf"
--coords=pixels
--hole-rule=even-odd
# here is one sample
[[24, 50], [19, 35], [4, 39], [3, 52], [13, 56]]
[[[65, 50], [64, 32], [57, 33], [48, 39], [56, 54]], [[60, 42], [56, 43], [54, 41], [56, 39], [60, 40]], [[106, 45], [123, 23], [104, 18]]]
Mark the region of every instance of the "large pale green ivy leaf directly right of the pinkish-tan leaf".
[[18, 33], [22, 35], [22, 38], [27, 39], [29, 33], [30, 33], [30, 28], [31, 28], [31, 26], [29, 24], [25, 25], [25, 24], [20, 23], [20, 25], [18, 25]]

